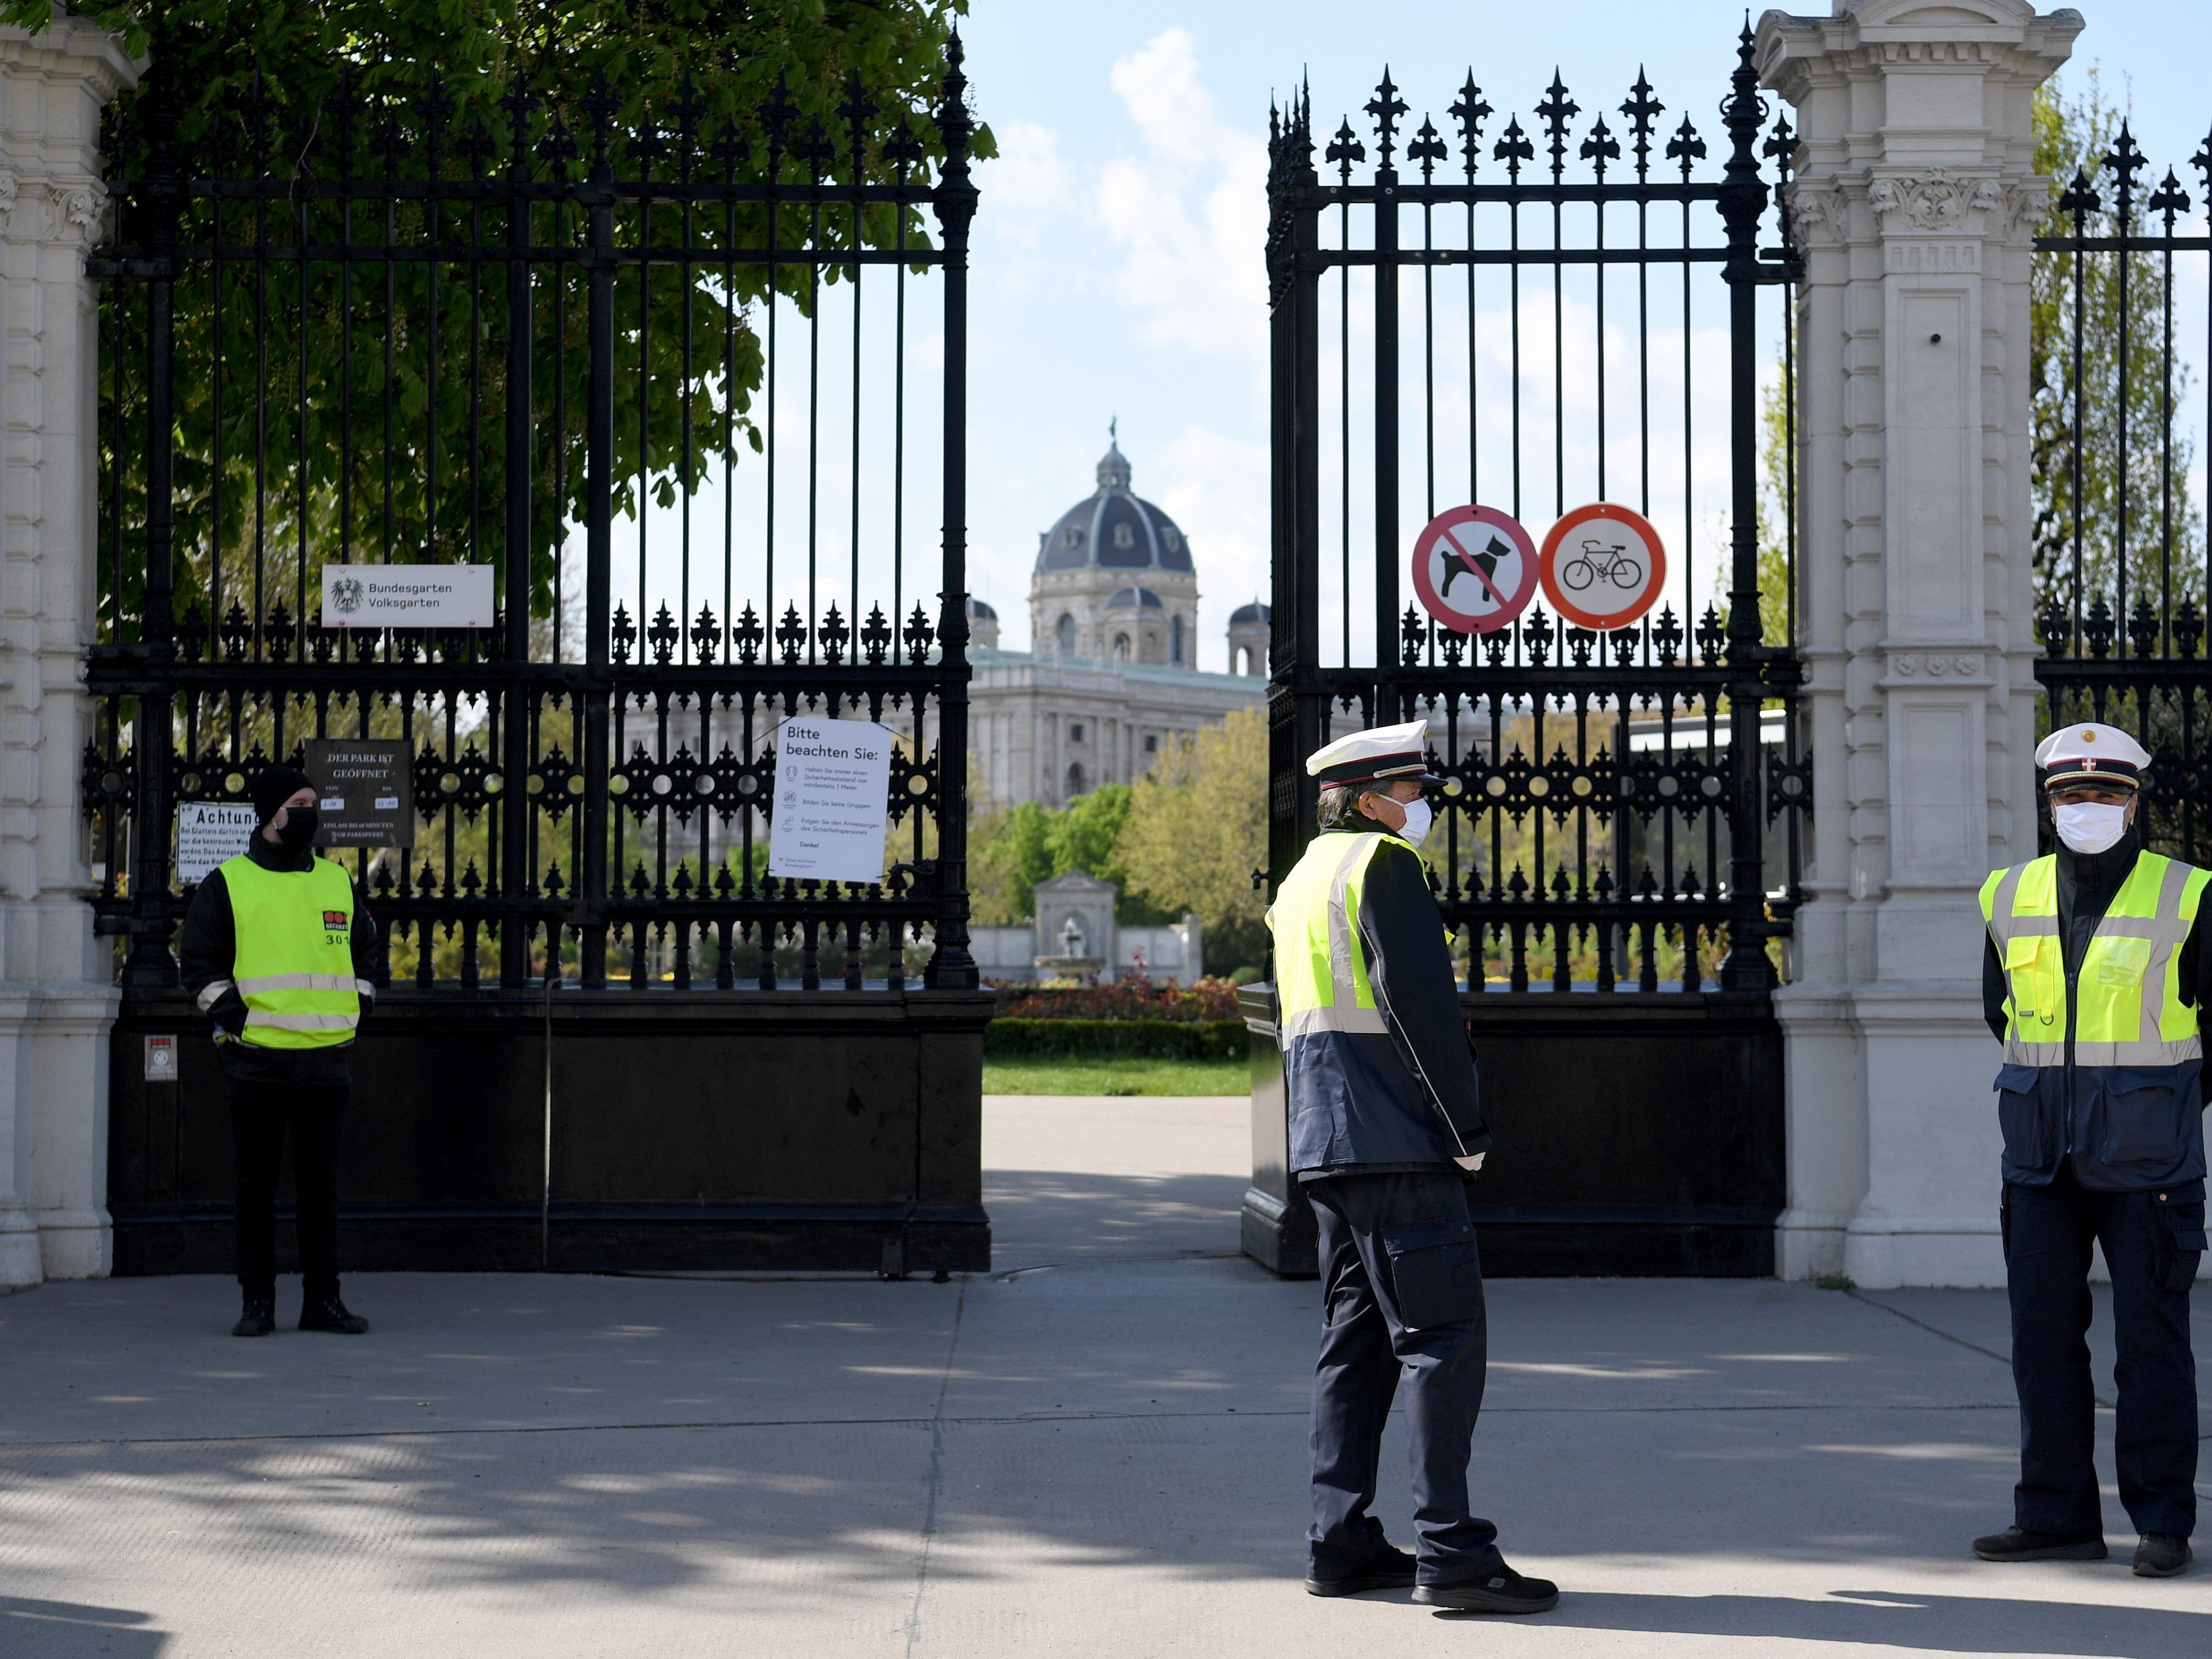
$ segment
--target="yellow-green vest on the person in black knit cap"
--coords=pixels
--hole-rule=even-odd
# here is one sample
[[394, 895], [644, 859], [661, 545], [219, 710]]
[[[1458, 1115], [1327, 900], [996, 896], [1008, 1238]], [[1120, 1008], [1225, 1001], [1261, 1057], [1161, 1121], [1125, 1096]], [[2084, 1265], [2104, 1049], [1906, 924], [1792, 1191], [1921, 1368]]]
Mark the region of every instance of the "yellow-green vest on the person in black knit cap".
[[257, 1048], [332, 1048], [352, 1042], [361, 998], [354, 978], [354, 883], [341, 865], [263, 869], [223, 863], [237, 938], [232, 984], [246, 1000], [246, 1042]]

